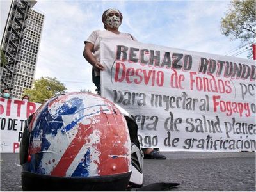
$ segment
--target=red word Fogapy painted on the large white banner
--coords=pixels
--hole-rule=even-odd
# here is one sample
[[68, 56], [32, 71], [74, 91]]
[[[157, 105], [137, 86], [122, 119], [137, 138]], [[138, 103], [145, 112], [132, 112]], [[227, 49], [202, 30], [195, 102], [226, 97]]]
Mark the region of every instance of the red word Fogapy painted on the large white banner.
[[231, 102], [219, 100], [221, 97], [218, 95], [214, 95], [213, 99], [213, 111], [216, 112], [220, 109], [221, 112], [227, 112], [226, 115], [230, 116], [232, 113], [239, 113], [239, 116], [243, 116], [243, 112], [247, 112], [245, 114], [246, 117], [251, 116], [251, 111], [249, 107], [249, 103], [245, 102]]

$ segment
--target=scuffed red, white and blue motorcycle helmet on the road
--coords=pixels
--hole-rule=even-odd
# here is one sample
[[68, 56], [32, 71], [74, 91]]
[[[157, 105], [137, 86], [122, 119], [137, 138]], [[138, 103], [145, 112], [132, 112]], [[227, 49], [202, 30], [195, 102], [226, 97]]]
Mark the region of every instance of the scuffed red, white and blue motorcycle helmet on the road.
[[22, 189], [124, 191], [133, 172], [127, 126], [133, 120], [126, 118], [115, 104], [92, 93], [47, 100], [28, 118], [20, 142]]

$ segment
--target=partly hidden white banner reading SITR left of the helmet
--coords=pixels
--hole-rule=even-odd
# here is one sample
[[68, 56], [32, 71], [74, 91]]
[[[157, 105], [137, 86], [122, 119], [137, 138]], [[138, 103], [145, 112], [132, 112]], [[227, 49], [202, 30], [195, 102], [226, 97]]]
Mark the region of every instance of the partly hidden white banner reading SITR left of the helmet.
[[1, 152], [19, 152], [26, 120], [41, 104], [0, 98]]

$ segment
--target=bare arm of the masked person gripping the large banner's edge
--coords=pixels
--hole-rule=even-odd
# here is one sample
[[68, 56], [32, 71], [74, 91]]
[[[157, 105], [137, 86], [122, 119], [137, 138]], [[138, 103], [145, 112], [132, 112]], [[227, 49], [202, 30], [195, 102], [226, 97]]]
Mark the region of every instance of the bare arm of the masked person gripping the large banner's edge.
[[84, 45], [84, 52], [83, 52], [83, 56], [86, 59], [86, 61], [88, 61], [88, 63], [90, 63], [95, 70], [104, 70], [104, 66], [95, 59], [95, 57], [93, 56], [93, 49], [94, 49], [94, 45], [90, 42], [86, 42], [86, 44]]

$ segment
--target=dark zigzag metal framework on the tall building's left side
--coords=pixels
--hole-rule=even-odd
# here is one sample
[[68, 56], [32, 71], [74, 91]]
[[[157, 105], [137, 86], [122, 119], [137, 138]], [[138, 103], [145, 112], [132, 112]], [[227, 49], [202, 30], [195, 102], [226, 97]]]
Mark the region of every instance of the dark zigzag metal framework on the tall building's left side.
[[10, 6], [1, 40], [1, 50], [7, 61], [5, 65], [1, 63], [1, 89], [8, 88], [10, 91], [13, 89], [13, 79], [19, 62], [19, 52], [24, 38], [26, 19], [28, 19], [29, 9], [35, 3], [36, 1], [13, 0]]

